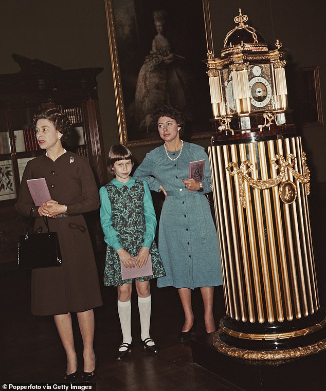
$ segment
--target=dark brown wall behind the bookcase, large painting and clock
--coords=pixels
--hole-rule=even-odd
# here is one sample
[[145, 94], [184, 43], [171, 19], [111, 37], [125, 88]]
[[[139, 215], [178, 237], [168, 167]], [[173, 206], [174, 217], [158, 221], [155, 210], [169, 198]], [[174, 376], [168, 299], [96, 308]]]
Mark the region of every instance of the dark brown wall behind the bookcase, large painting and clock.
[[[292, 64], [319, 66], [322, 103], [326, 107], [323, 0], [302, 4], [294, 0], [210, 0], [215, 56], [220, 55], [227, 31], [235, 26], [233, 18], [239, 7], [270, 46], [277, 38], [289, 49]], [[64, 69], [103, 67], [98, 84], [106, 151], [112, 143], [119, 142], [104, 0], [1, 0], [0, 15], [0, 73], [19, 71], [12, 53]], [[326, 120], [326, 114], [324, 117]], [[305, 128], [301, 134], [314, 180], [325, 182], [325, 126]], [[205, 146], [209, 140], [198, 143]], [[149, 150], [150, 147], [134, 148], [136, 160], [141, 161]]]

